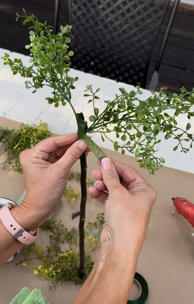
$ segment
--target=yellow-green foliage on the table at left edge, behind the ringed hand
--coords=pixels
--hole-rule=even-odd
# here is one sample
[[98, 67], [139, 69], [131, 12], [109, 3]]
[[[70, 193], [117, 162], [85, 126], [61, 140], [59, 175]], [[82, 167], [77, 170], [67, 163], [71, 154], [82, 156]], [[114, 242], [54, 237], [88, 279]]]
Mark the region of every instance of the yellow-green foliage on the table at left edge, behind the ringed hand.
[[5, 148], [2, 154], [7, 152], [6, 160], [2, 163], [3, 169], [6, 164], [12, 166], [14, 171], [22, 173], [22, 167], [19, 161], [19, 155], [22, 151], [34, 147], [39, 141], [51, 136], [47, 124], [40, 122], [38, 126], [22, 123], [18, 130], [3, 129], [0, 127], [0, 134], [4, 133], [2, 143]]

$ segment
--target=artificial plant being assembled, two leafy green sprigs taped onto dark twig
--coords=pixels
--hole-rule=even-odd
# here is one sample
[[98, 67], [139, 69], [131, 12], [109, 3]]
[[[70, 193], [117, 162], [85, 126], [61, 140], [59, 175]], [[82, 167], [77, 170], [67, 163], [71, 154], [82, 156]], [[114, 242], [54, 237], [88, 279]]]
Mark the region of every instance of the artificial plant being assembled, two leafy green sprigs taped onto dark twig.
[[[49, 86], [53, 89], [52, 96], [46, 97], [49, 104], [56, 108], [59, 103], [68, 104], [77, 121], [78, 136], [82, 139], [96, 157], [101, 161], [106, 157], [105, 153], [94, 143], [87, 133], [101, 133], [101, 138], [112, 141], [115, 151], [129, 151], [140, 157], [140, 167], [147, 168], [154, 174], [156, 170], [165, 163], [164, 158], [156, 156], [156, 145], [160, 142], [157, 138], [159, 133], [164, 134], [165, 139], [173, 137], [177, 144], [174, 150], [180, 146], [182, 152], [188, 152], [189, 148], [184, 146], [184, 142], [190, 142], [190, 148], [193, 143], [193, 136], [189, 133], [190, 123], [186, 130], [178, 126], [176, 117], [180, 114], [187, 115], [188, 119], [194, 115], [192, 106], [194, 105], [194, 88], [192, 92], [187, 92], [181, 88], [181, 93], [169, 94], [160, 90], [159, 94], [151, 91], [151, 96], [146, 100], [141, 100], [141, 90], [136, 87], [135, 90], [126, 92], [120, 88], [120, 94], [115, 95], [115, 99], [105, 102], [105, 108], [100, 113], [98, 108], [99, 97], [97, 93], [100, 88], [93, 90], [92, 85], [86, 87], [86, 97], [88, 102], [92, 102], [94, 115], [90, 116], [92, 122], [90, 126], [84, 119], [83, 113], [77, 113], [71, 100], [71, 92], [75, 89], [75, 82], [78, 77], [69, 77], [68, 73], [71, 66], [71, 57], [73, 51], [69, 49], [69, 43], [72, 38], [72, 26], [60, 26], [60, 32], [56, 35], [52, 33], [52, 26], [39, 22], [34, 15], [27, 16], [23, 9], [23, 15], [17, 15], [16, 21], [23, 18], [23, 24], [31, 22], [29, 27], [30, 42], [26, 49], [30, 51], [30, 67], [25, 67], [21, 59], [9, 58], [5, 53], [4, 64], [9, 65], [13, 74], [19, 73], [22, 77], [28, 78], [25, 81], [26, 88], [33, 88], [35, 93], [43, 86]], [[173, 111], [169, 114], [168, 110]], [[115, 134], [115, 139], [110, 138], [110, 133]], [[123, 144], [119, 143], [119, 140]], [[81, 204], [80, 204], [80, 277], [84, 275], [84, 222], [85, 222], [85, 204], [87, 198], [86, 188], [86, 157], [85, 154], [80, 158], [81, 164]]]

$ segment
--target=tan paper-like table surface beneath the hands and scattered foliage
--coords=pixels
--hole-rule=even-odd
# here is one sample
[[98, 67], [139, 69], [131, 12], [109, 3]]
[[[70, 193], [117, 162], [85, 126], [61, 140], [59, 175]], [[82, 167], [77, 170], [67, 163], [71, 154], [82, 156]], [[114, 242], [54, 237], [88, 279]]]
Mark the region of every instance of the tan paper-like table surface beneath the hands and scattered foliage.
[[[0, 126], [17, 128], [19, 123], [0, 118]], [[105, 153], [137, 169], [158, 193], [137, 267], [137, 271], [146, 278], [149, 285], [149, 298], [146, 303], [194, 303], [194, 239], [191, 236], [193, 229], [182, 216], [170, 216], [173, 209], [170, 205], [171, 197], [185, 197], [194, 202], [194, 175], [162, 168], [156, 172], [155, 177], [149, 177], [148, 171], [140, 169], [133, 157], [109, 150], [105, 150]], [[178, 157], [176, 153], [175, 157]], [[96, 168], [95, 157], [91, 153], [88, 157], [88, 177], [92, 177], [92, 171]], [[79, 170], [79, 162], [73, 170]], [[6, 168], [5, 171], [0, 170], [0, 178], [0, 195], [17, 201], [25, 189], [23, 176]], [[79, 184], [75, 182], [69, 182], [69, 185], [79, 188]], [[78, 209], [79, 203], [72, 206], [62, 199], [62, 204], [53, 218], [62, 219], [68, 228], [77, 226], [79, 219], [72, 221], [71, 213]], [[95, 219], [98, 212], [102, 212], [102, 206], [89, 200], [86, 210], [86, 222], [89, 222]], [[45, 231], [40, 231], [39, 241], [43, 244], [45, 234]], [[50, 291], [49, 283], [42, 282], [38, 275], [32, 275], [30, 269], [21, 265], [15, 266], [22, 258], [21, 253], [10, 264], [0, 269], [0, 304], [8, 304], [24, 286], [30, 289], [40, 288], [51, 304], [72, 303], [79, 291], [79, 285], [64, 283]]]

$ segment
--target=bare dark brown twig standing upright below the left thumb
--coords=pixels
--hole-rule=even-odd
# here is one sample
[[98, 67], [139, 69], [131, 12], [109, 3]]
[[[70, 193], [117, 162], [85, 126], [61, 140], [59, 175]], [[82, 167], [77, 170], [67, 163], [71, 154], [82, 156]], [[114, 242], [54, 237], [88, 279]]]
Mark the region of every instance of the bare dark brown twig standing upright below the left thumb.
[[87, 174], [87, 162], [85, 152], [80, 157], [81, 165], [81, 202], [80, 202], [80, 218], [79, 218], [79, 277], [83, 278], [84, 275], [84, 223], [85, 223], [85, 205], [87, 200], [87, 184], [86, 184], [86, 174]]

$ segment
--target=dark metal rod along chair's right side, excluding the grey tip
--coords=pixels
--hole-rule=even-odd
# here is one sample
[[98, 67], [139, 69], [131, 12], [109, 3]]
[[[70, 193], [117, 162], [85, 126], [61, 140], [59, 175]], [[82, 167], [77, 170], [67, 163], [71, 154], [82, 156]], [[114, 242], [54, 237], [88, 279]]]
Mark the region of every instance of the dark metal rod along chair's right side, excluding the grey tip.
[[175, 0], [173, 8], [172, 8], [170, 19], [169, 19], [169, 22], [168, 22], [168, 25], [167, 25], [167, 28], [166, 28], [166, 33], [164, 35], [164, 39], [162, 41], [162, 45], [161, 45], [161, 48], [160, 48], [160, 53], [159, 53], [158, 59], [156, 61], [155, 71], [157, 71], [157, 72], [159, 71], [159, 68], [160, 68], [160, 65], [161, 65], [161, 62], [162, 62], [164, 51], [166, 49], [166, 43], [167, 43], [167, 40], [169, 38], [169, 34], [170, 34], [172, 24], [173, 24], [175, 16], [176, 16], [176, 12], [177, 12], [179, 3], [180, 3], [180, 0]]

